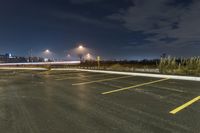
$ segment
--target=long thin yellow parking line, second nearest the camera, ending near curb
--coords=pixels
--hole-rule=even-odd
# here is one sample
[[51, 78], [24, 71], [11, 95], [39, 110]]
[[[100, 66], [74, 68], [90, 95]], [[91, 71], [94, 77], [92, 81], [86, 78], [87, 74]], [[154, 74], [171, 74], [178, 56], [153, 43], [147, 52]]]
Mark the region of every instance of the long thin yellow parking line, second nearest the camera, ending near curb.
[[165, 80], [169, 80], [169, 78], [160, 79], [160, 80], [156, 80], [156, 81], [151, 81], [151, 82], [147, 82], [147, 83], [142, 83], [142, 84], [129, 86], [129, 87], [125, 87], [125, 88], [121, 88], [121, 89], [117, 89], [117, 90], [107, 91], [107, 92], [103, 92], [101, 94], [105, 95], [105, 94], [110, 94], [110, 93], [114, 93], [114, 92], [129, 90], [129, 89], [132, 89], [132, 88], [141, 87], [141, 86], [149, 85], [149, 84], [154, 84], [154, 83], [162, 82], [162, 81], [165, 81]]

